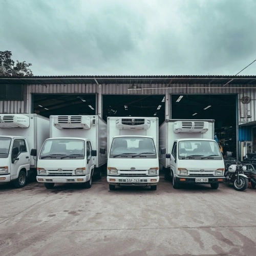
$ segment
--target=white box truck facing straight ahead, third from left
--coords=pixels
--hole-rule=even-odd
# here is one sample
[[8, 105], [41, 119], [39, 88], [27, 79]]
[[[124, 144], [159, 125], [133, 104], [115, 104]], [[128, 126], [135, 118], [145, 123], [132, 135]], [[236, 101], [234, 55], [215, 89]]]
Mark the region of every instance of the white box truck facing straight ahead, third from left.
[[[158, 118], [108, 117], [108, 176], [117, 185], [149, 185], [159, 181]], [[105, 153], [105, 148], [100, 149]]]

